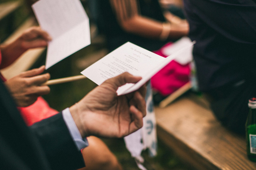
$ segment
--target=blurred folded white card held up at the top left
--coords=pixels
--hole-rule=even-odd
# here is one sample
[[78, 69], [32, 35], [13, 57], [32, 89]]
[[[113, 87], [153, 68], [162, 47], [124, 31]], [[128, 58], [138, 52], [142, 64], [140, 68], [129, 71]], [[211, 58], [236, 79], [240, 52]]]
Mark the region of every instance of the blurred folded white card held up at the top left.
[[46, 69], [91, 43], [89, 18], [80, 0], [39, 0], [32, 8], [40, 27], [52, 37]]

